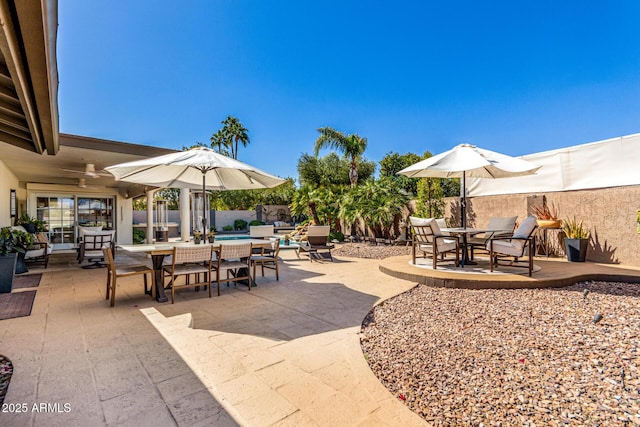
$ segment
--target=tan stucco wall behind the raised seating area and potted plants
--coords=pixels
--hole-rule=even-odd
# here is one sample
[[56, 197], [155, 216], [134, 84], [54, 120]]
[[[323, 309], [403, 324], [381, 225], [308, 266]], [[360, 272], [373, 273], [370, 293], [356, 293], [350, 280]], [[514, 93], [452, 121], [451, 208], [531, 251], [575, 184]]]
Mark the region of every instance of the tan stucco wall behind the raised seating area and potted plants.
[[[548, 205], [558, 207], [560, 218], [575, 215], [590, 229], [588, 261], [640, 266], [640, 234], [637, 231], [640, 186], [474, 197], [467, 201], [469, 226], [486, 226], [492, 216], [518, 215], [521, 221], [528, 214], [528, 207], [541, 203], [543, 196]], [[460, 217], [459, 199], [447, 200], [447, 217], [456, 220]], [[548, 237], [557, 247], [556, 235], [551, 231]]]

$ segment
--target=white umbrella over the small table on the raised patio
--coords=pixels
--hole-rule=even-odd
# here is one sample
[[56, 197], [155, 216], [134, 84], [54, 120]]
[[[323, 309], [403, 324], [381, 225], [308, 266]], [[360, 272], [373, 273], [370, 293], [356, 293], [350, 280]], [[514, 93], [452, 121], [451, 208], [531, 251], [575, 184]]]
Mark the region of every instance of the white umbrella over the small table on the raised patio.
[[462, 227], [467, 226], [466, 183], [472, 178], [509, 178], [534, 174], [540, 166], [516, 157], [460, 144], [402, 169], [398, 174], [413, 178], [462, 178]]

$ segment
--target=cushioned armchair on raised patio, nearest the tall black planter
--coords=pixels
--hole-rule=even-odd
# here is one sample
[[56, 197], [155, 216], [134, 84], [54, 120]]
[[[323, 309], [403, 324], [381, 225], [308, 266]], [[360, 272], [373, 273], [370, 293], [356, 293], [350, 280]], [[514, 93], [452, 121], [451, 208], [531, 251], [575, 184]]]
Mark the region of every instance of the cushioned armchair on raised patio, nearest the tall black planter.
[[[525, 256], [525, 252], [528, 252], [529, 262], [527, 267], [529, 269], [529, 277], [531, 277], [533, 273], [533, 253], [536, 247], [534, 233], [536, 228], [538, 228], [536, 217], [529, 216], [520, 223], [513, 236], [489, 239], [485, 247], [489, 251], [490, 270], [493, 272], [494, 266], [498, 265], [521, 267], [517, 264], [517, 261]], [[508, 264], [500, 264], [500, 260], [504, 259], [510, 259], [511, 261]]]

